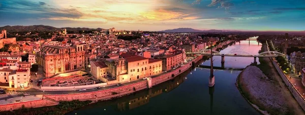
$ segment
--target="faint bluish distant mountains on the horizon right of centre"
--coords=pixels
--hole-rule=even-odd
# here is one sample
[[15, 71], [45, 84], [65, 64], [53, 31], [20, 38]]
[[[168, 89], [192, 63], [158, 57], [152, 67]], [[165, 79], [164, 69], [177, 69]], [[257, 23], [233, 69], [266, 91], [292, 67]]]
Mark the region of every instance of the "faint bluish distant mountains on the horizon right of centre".
[[201, 31], [201, 30], [195, 30], [193, 28], [175, 28], [172, 30], [165, 30], [160, 31], [164, 33], [196, 33], [196, 32], [241, 32], [241, 31], [224, 31], [224, 30], [207, 30], [207, 31]]

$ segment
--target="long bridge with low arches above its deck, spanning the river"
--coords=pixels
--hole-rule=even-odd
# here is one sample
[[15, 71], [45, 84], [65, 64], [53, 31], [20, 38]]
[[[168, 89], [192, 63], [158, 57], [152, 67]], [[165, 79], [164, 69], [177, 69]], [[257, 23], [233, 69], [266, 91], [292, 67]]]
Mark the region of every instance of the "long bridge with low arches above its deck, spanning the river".
[[[212, 51], [212, 53], [211, 53]], [[240, 56], [240, 57], [277, 57], [277, 56], [285, 56], [285, 54], [277, 52], [277, 51], [265, 51], [259, 54], [252, 54], [246, 51], [231, 51], [225, 54], [221, 54], [219, 51], [203, 49], [196, 52], [186, 52], [186, 54], [202, 54], [202, 55], [216, 55], [216, 56]]]

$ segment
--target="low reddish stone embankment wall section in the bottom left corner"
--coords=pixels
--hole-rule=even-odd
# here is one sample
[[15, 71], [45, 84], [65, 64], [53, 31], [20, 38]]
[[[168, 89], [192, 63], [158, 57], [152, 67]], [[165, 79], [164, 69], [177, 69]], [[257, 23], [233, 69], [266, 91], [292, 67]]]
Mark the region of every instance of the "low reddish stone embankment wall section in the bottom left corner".
[[58, 103], [47, 100], [47, 99], [41, 99], [41, 100], [0, 105], [0, 111], [15, 110], [15, 109], [22, 108], [22, 106], [24, 106], [25, 108], [36, 108], [36, 107], [43, 107], [43, 106], [52, 106], [52, 105], [57, 105], [57, 104]]

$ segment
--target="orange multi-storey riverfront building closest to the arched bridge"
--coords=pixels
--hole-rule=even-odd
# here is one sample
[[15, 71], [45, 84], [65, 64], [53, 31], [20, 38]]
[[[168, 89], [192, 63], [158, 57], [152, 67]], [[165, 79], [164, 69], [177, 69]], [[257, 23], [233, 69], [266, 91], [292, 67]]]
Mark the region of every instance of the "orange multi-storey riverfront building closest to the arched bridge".
[[182, 51], [174, 51], [171, 54], [155, 56], [155, 58], [162, 60], [163, 71], [169, 71], [175, 66], [184, 64], [184, 55]]

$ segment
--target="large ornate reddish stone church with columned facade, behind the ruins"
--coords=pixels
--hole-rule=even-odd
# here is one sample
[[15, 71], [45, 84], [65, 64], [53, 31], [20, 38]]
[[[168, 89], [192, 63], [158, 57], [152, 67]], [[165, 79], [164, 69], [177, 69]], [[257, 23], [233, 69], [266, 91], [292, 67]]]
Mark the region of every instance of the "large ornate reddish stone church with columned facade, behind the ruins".
[[83, 45], [63, 47], [48, 45], [41, 49], [39, 60], [46, 77], [57, 73], [65, 73], [84, 67], [85, 51]]

